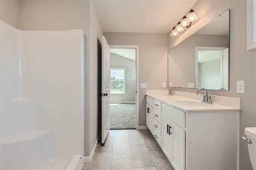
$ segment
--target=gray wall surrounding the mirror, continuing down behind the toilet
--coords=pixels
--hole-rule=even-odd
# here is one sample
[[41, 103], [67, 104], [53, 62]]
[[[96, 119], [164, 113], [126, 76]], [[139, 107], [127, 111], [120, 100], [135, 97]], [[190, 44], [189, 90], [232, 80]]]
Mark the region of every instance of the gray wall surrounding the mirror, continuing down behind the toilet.
[[[192, 9], [198, 16], [181, 36], [168, 36], [168, 49], [186, 39], [192, 33], [216, 18], [219, 14], [230, 9], [230, 76], [229, 91], [209, 90], [210, 94], [242, 98], [242, 111], [240, 111], [240, 169], [252, 170], [248, 154], [247, 143], [242, 140], [245, 127], [256, 127], [256, 49], [246, 49], [246, 31], [241, 32], [241, 25], [246, 25], [246, 0], [198, 0]], [[236, 93], [236, 81], [245, 81], [245, 93]], [[181, 90], [173, 88], [173, 90]], [[196, 89], [182, 89], [182, 91], [196, 92]]]

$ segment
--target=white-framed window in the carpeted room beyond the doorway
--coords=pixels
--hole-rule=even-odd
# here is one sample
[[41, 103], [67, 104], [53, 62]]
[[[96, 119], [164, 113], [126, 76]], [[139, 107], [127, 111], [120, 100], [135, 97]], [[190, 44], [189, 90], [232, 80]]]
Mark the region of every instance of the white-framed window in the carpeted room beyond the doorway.
[[110, 94], [125, 94], [125, 68], [110, 68]]

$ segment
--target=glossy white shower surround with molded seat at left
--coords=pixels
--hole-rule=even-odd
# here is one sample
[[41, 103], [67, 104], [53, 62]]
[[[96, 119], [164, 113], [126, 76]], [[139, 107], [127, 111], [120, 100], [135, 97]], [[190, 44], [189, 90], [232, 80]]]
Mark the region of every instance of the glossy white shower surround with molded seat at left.
[[[0, 169], [79, 169], [84, 155], [83, 31], [21, 31], [3, 21], [0, 29]], [[37, 152], [31, 157], [26, 147]], [[8, 153], [15, 156], [8, 159]]]

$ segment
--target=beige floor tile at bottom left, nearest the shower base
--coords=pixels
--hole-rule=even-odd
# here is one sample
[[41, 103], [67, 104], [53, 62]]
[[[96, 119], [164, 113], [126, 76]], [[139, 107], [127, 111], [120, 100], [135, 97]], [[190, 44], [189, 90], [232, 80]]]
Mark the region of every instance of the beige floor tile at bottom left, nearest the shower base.
[[94, 152], [88, 170], [110, 170], [112, 152]]

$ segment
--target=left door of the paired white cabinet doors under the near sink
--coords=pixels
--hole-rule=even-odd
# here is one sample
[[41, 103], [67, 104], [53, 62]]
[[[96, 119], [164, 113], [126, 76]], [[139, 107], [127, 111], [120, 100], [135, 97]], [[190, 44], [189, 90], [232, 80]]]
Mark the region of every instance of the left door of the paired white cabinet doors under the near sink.
[[162, 150], [170, 160], [171, 156], [171, 121], [162, 115]]

